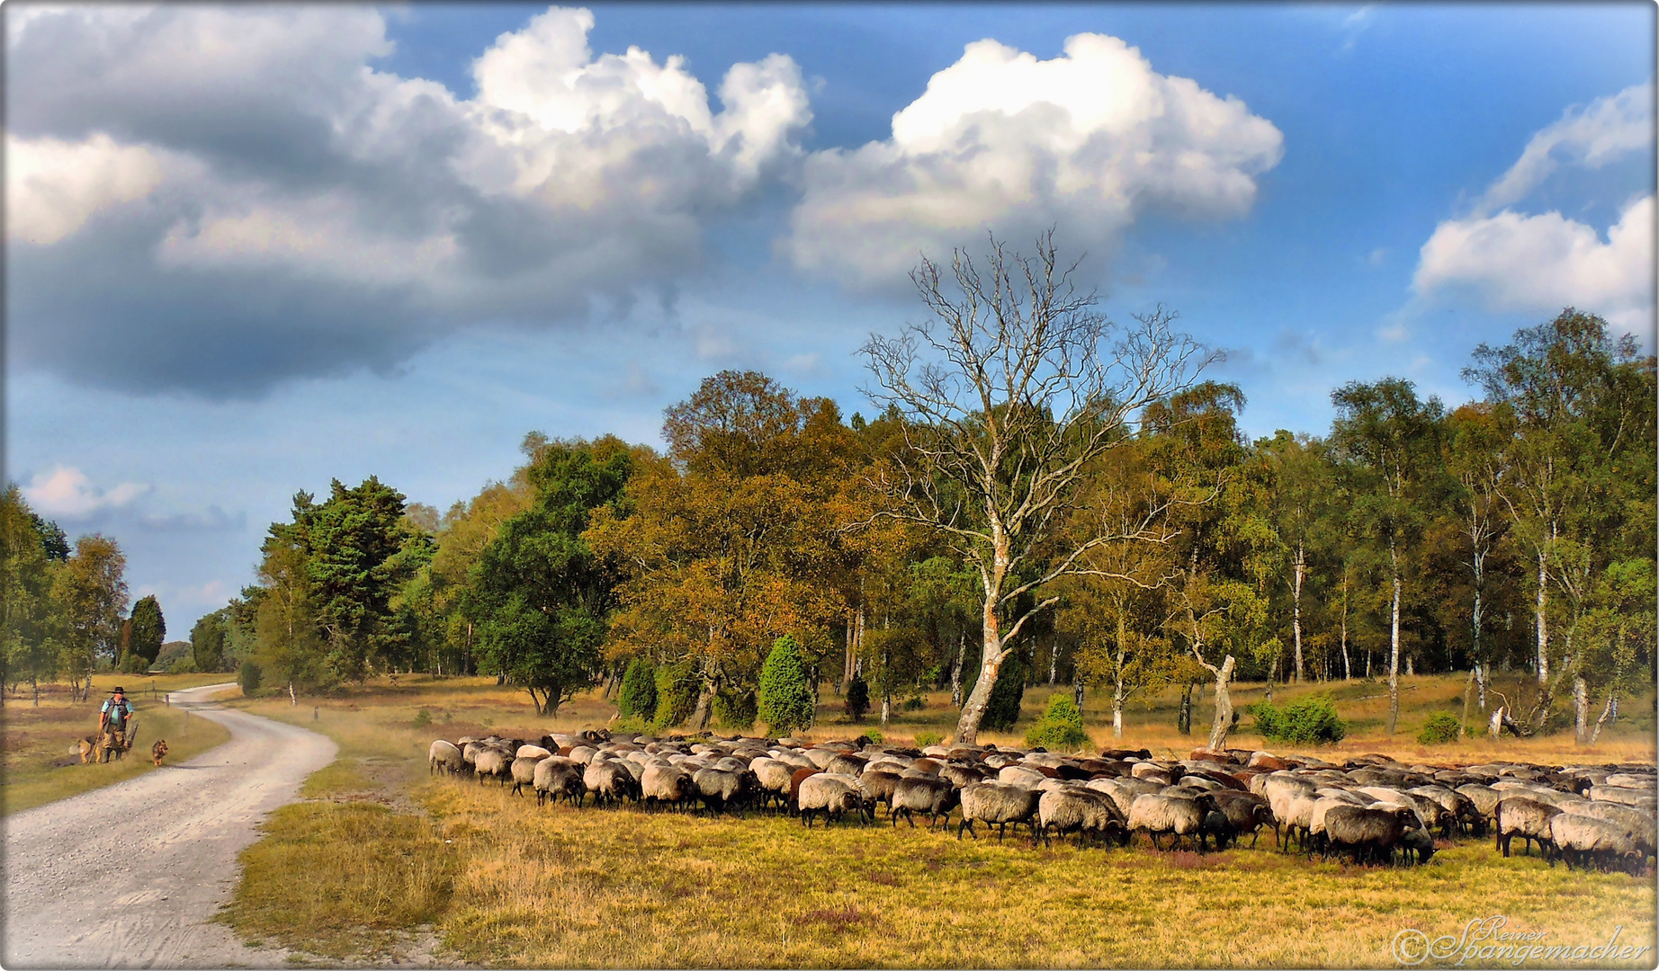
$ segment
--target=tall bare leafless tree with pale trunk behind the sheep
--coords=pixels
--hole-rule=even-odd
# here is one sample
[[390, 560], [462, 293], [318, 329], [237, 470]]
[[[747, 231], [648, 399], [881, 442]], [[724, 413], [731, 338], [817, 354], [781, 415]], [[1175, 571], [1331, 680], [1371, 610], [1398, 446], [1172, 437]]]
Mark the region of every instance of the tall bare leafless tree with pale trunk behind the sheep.
[[[1163, 535], [1155, 520], [1077, 530], [1075, 500], [1090, 462], [1125, 441], [1141, 409], [1214, 360], [1163, 308], [1112, 323], [1075, 272], [1052, 232], [1030, 257], [995, 239], [984, 265], [961, 250], [949, 270], [924, 257], [911, 280], [934, 318], [864, 345], [866, 393], [904, 418], [906, 447], [879, 472], [894, 499], [883, 515], [942, 534], [984, 593], [979, 679], [957, 742], [975, 742], [1015, 638], [1057, 603], [1045, 585], [1087, 572], [1097, 547]], [[1004, 618], [1029, 592], [1032, 606]]]

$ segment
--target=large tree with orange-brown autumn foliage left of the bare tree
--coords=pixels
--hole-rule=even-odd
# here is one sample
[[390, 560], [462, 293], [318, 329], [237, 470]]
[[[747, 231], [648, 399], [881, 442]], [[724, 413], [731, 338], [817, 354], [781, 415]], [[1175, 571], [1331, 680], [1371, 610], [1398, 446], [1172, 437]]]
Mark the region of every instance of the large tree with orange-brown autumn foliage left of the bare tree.
[[624, 570], [612, 658], [690, 661], [688, 716], [757, 686], [773, 643], [793, 635], [811, 666], [844, 623], [841, 485], [853, 432], [828, 398], [757, 371], [722, 371], [665, 413], [667, 456], [644, 456], [632, 512], [599, 509], [586, 539]]

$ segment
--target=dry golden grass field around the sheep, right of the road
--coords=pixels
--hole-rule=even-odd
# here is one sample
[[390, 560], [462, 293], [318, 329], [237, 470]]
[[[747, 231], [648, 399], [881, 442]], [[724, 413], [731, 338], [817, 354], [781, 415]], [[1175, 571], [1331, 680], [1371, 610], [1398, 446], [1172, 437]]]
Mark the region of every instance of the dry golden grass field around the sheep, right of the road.
[[[1400, 732], [1382, 734], [1377, 683], [1276, 691], [1276, 699], [1332, 689], [1350, 737], [1319, 751], [1380, 751], [1407, 761], [1652, 762], [1652, 701], [1626, 714], [1591, 751], [1571, 736], [1467, 741], [1423, 747], [1417, 727], [1462, 708], [1462, 681], [1413, 678]], [[1261, 686], [1238, 693], [1239, 704]], [[1344, 698], [1347, 694], [1347, 698]], [[1027, 693], [1025, 721], [1047, 689]], [[876, 729], [833, 724], [825, 694], [811, 737]], [[949, 731], [947, 699], [904, 713], [893, 741]], [[620, 810], [538, 809], [494, 784], [430, 779], [433, 737], [542, 734], [596, 727], [614, 709], [581, 698], [554, 721], [528, 696], [491, 679], [401, 678], [325, 699], [237, 699], [259, 714], [335, 737], [340, 759], [307, 784], [307, 802], [265, 824], [244, 853], [226, 920], [324, 961], [406, 959], [416, 930], [441, 941], [440, 963], [491, 966], [1397, 966], [1402, 928], [1455, 935], [1503, 915], [1506, 930], [1546, 943], [1654, 946], [1654, 877], [1568, 873], [1525, 855], [1500, 858], [1486, 840], [1460, 840], [1427, 867], [1345, 867], [1281, 855], [1272, 835], [1254, 850], [1155, 853], [1029, 840], [992, 840], [844, 825], [811, 832], [788, 817], [747, 819]], [[1204, 699], [1208, 704], [1208, 696]], [[1123, 746], [1185, 754], [1203, 732], [1173, 729], [1173, 693], [1136, 704]], [[425, 711], [425, 716], [421, 714]], [[1204, 708], [1194, 721], [1203, 724]], [[1646, 713], [1632, 716], [1632, 713]], [[1098, 699], [1092, 726], [1103, 721]], [[1025, 721], [1009, 736], [1019, 742]], [[1251, 724], [1241, 719], [1241, 727]], [[1168, 726], [1168, 727], [1166, 727]], [[1092, 727], [1097, 744], [1110, 726]], [[1238, 746], [1262, 746], [1249, 731]], [[1272, 746], [1269, 746], [1272, 747]], [[1276, 747], [1274, 747], [1276, 749]], [[1654, 951], [1632, 963], [1651, 966]], [[1470, 966], [1510, 961], [1470, 959]], [[1536, 963], [1535, 963], [1536, 964]], [[1609, 966], [1609, 964], [1603, 964]]]

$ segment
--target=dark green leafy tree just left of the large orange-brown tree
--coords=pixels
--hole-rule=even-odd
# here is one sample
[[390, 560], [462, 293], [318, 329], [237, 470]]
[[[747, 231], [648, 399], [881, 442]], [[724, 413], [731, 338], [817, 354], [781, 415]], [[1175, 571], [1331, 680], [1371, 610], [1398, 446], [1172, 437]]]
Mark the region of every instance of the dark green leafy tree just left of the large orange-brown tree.
[[529, 471], [536, 500], [473, 565], [479, 668], [528, 691], [544, 716], [599, 671], [619, 577], [582, 532], [594, 510], [615, 509], [630, 469], [629, 447], [612, 436], [547, 442]]

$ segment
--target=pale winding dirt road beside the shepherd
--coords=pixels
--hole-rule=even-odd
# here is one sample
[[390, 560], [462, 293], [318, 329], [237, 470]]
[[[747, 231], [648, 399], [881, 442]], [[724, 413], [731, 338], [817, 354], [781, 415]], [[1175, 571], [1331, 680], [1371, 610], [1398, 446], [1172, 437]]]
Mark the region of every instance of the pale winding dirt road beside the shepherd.
[[282, 951], [244, 948], [206, 921], [236, 886], [236, 855], [257, 837], [254, 824], [292, 802], [338, 749], [317, 732], [204, 701], [226, 688], [234, 684], [174, 691], [173, 704], [231, 729], [229, 742], [5, 820], [0, 964], [282, 964]]

